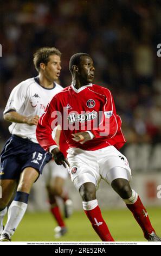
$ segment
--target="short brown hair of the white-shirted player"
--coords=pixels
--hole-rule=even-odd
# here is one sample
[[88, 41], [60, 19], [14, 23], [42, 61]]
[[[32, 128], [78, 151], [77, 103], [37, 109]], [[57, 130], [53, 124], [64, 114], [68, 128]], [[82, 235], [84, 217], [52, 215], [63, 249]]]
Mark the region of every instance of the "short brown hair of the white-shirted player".
[[61, 52], [55, 47], [42, 47], [34, 53], [33, 61], [37, 71], [40, 71], [40, 63], [48, 64], [50, 55], [61, 57]]

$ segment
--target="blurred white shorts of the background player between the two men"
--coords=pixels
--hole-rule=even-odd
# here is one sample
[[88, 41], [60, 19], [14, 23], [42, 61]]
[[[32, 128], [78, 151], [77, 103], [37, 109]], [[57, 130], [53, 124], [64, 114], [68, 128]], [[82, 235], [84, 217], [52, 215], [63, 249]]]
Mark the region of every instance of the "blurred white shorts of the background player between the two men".
[[60, 177], [62, 179], [68, 178], [68, 170], [67, 168], [61, 166], [58, 166], [55, 161], [51, 160], [49, 161], [43, 168], [42, 172], [42, 178], [48, 186], [50, 184], [51, 179], [54, 179], [55, 177]]

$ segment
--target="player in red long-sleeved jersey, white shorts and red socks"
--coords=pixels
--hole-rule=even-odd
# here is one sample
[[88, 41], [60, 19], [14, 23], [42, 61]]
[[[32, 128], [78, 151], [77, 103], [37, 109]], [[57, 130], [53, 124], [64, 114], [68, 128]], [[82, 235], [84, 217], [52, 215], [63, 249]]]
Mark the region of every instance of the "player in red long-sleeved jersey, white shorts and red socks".
[[[38, 142], [53, 154], [57, 164], [68, 164], [83, 209], [102, 241], [114, 240], [96, 200], [101, 179], [124, 200], [143, 229], [145, 239], [161, 241], [137, 192], [130, 187], [131, 169], [126, 157], [118, 151], [125, 138], [110, 90], [92, 84], [95, 68], [86, 53], [74, 54], [69, 70], [72, 85], [55, 95], [47, 106], [37, 125]], [[51, 137], [57, 124], [61, 125], [69, 145], [67, 159]]]

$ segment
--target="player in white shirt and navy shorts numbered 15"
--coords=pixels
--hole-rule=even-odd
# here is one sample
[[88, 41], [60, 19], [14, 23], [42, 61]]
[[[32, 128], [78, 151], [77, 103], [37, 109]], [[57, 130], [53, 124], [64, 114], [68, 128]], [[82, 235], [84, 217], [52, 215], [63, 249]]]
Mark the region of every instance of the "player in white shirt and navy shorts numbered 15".
[[[18, 84], [12, 90], [4, 110], [4, 119], [12, 124], [9, 126], [11, 137], [5, 143], [0, 156], [0, 185], [3, 194], [0, 199], [0, 241], [11, 241], [11, 236], [27, 209], [31, 187], [42, 173], [45, 164], [51, 160], [51, 154], [38, 144], [35, 132], [38, 119], [47, 104], [62, 90], [62, 87], [54, 82], [60, 76], [61, 52], [55, 47], [40, 48], [34, 54], [34, 65], [38, 76]], [[67, 169], [63, 168], [60, 172], [64, 172], [66, 177]], [[9, 207], [8, 221], [3, 230], [3, 218], [16, 186], [17, 192]], [[61, 190], [62, 188], [59, 193]], [[50, 198], [54, 198], [51, 189], [48, 193]], [[59, 193], [57, 195], [60, 196]], [[56, 220], [60, 221], [60, 231], [65, 233], [66, 227], [59, 208], [52, 213], [56, 214]]]

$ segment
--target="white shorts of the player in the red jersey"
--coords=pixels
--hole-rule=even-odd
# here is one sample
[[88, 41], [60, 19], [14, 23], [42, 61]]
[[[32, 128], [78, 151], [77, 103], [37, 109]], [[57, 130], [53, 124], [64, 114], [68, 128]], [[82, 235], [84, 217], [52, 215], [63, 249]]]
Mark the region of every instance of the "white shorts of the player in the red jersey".
[[[113, 146], [94, 151], [70, 148], [67, 152], [70, 177], [78, 191], [86, 182], [94, 183], [98, 189], [101, 179], [110, 185], [119, 178], [131, 180], [131, 169], [126, 157]], [[116, 171], [114, 167], [121, 168]]]

